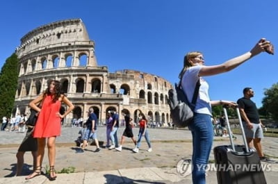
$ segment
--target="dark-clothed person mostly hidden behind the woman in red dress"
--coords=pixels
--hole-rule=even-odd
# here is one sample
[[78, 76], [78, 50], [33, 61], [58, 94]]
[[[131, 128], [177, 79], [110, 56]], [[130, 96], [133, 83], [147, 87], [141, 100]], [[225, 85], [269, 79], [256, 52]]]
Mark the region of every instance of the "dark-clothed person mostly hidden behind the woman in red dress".
[[38, 142], [37, 139], [33, 137], [33, 127], [29, 126], [26, 132], [22, 144], [20, 144], [17, 151], [17, 173], [16, 176], [21, 176], [22, 167], [24, 165], [24, 153], [26, 151], [31, 151], [33, 156], [33, 167], [37, 163], [37, 154], [38, 154]]

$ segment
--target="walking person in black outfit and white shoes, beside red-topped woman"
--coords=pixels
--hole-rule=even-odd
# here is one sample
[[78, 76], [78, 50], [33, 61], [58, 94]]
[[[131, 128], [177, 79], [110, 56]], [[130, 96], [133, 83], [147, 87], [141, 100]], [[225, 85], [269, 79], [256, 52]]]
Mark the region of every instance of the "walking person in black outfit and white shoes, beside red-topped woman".
[[133, 119], [128, 115], [127, 112], [125, 112], [125, 110], [122, 110], [122, 115], [124, 116], [124, 122], [126, 123], [126, 128], [124, 129], [124, 133], [122, 134], [120, 147], [115, 148], [117, 151], [122, 151], [122, 144], [124, 144], [124, 137], [130, 137], [133, 143], [136, 145], [136, 140], [132, 132]]

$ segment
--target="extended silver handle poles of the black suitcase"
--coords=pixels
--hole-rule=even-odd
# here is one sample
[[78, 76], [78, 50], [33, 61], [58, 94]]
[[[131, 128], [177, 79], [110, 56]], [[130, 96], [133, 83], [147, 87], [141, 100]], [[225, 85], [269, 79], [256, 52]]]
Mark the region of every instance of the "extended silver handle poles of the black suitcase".
[[[226, 119], [227, 126], [228, 126], [228, 131], [229, 131], [229, 137], [230, 137], [231, 147], [232, 147], [233, 151], [236, 151], [235, 146], [234, 146], [234, 140], [233, 140], [233, 137], [232, 137], [232, 135], [231, 135], [231, 126], [230, 126], [230, 123], [229, 123], [229, 118], [228, 118], [228, 113], [227, 113], [227, 107], [229, 107], [229, 106], [223, 106], [224, 115], [225, 115], [225, 119]], [[237, 113], [237, 115], [238, 115], [238, 121], [239, 121], [239, 124], [240, 124], [241, 132], [243, 133], [243, 143], [244, 143], [244, 145], [245, 145], [245, 149], [246, 149], [247, 153], [249, 153], [249, 152], [250, 152], [250, 149], [249, 149], [248, 144], [247, 144], [247, 141], [246, 141], [245, 131], [244, 131], [244, 128], [243, 128], [243, 121], [241, 120], [240, 112], [239, 112], [238, 106], [236, 106], [236, 113]]]

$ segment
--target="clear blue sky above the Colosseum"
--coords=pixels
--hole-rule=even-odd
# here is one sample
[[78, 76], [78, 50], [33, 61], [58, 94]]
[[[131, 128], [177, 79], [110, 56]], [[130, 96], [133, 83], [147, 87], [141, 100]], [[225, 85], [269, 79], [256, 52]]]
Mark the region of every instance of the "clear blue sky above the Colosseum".
[[[261, 37], [278, 45], [277, 8], [277, 0], [3, 1], [0, 67], [28, 31], [81, 18], [95, 41], [98, 65], [109, 72], [140, 70], [174, 84], [188, 51], [202, 51], [206, 65], [216, 65], [250, 51]], [[261, 53], [206, 81], [212, 100], [236, 101], [243, 87], [252, 87], [260, 107], [264, 89], [278, 82], [277, 55]]]

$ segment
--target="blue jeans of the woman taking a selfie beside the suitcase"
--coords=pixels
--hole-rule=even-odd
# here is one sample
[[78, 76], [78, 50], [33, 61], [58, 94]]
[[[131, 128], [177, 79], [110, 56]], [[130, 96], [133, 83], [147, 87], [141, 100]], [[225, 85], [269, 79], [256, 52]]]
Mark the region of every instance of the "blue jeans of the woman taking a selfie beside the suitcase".
[[193, 122], [188, 128], [193, 136], [193, 184], [206, 184], [206, 166], [213, 144], [211, 116], [195, 113]]

